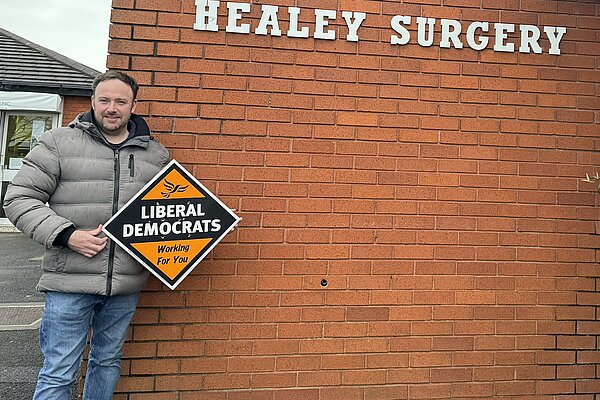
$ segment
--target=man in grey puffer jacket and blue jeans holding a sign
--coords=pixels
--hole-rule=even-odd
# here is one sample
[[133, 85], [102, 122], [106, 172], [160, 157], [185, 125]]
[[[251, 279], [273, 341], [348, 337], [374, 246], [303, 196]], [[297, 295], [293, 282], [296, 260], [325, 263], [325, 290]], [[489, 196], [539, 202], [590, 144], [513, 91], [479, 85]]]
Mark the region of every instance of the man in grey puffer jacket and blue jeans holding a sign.
[[112, 398], [122, 346], [148, 272], [102, 234], [106, 222], [168, 162], [133, 114], [138, 85], [117, 71], [92, 85], [92, 110], [45, 132], [8, 187], [4, 209], [46, 254], [38, 289], [44, 365], [34, 400], [67, 400], [91, 328], [86, 400]]

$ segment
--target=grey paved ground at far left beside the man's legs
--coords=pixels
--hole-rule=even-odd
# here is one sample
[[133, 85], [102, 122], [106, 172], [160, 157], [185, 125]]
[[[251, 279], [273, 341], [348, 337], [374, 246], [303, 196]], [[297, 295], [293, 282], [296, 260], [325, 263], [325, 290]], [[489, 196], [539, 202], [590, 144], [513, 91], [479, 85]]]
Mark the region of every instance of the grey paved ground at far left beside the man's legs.
[[44, 248], [0, 233], [0, 399], [30, 400], [42, 365], [37, 323], [44, 296], [35, 285]]

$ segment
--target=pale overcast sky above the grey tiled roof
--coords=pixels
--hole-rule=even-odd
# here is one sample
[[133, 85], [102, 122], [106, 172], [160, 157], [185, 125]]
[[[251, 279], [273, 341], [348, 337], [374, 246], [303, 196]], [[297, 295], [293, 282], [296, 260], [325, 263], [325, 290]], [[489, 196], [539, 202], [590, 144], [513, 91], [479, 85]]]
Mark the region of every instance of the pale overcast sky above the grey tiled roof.
[[112, 0], [0, 0], [0, 27], [106, 70]]

